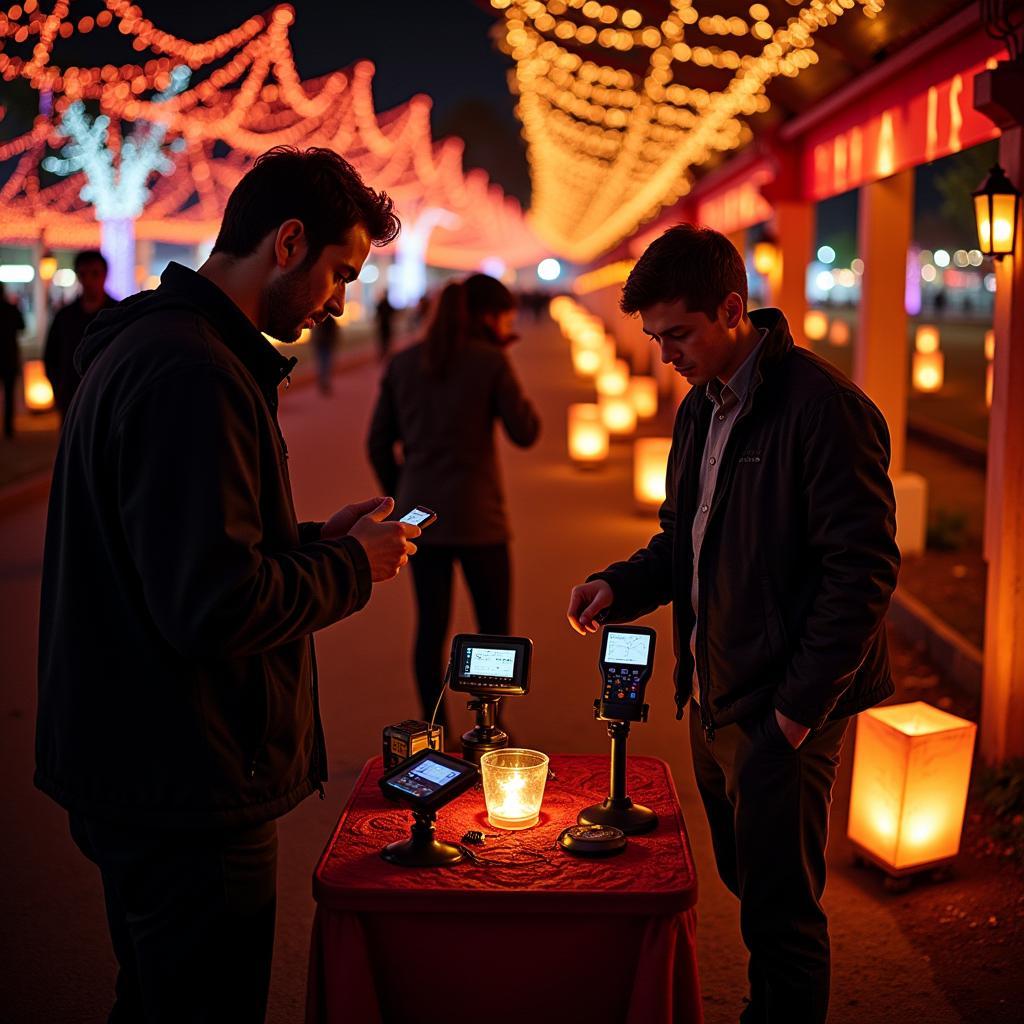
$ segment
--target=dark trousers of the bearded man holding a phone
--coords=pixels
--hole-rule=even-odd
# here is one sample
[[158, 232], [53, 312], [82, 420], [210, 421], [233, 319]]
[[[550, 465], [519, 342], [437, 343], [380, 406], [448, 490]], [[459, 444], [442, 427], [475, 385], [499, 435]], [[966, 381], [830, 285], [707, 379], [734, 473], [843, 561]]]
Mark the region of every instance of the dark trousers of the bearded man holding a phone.
[[99, 868], [118, 959], [109, 1024], [262, 1024], [276, 904], [276, 822], [170, 831], [71, 815]]

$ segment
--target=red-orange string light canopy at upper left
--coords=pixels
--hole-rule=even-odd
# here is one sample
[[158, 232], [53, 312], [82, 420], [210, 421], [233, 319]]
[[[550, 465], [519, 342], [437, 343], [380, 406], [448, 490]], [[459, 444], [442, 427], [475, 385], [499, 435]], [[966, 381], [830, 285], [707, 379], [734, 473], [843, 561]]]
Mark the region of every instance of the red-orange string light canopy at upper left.
[[[433, 218], [425, 257], [435, 265], [476, 269], [500, 256], [518, 267], [547, 255], [519, 204], [484, 172], [463, 168], [462, 141], [432, 137], [429, 97], [378, 113], [368, 61], [301, 81], [289, 38], [291, 5], [253, 15], [206, 42], [160, 30], [129, 0], [103, 0], [97, 14], [81, 17], [74, 16], [74, 6], [73, 0], [56, 0], [44, 11], [39, 0], [23, 0], [0, 12], [0, 79], [28, 82], [40, 112], [28, 131], [0, 140], [0, 162], [10, 168], [0, 187], [0, 242], [42, 240], [50, 248], [98, 243], [90, 205], [96, 197], [93, 191], [83, 199], [90, 183], [84, 173], [55, 182], [40, 178], [42, 161], [67, 143], [66, 115], [74, 119], [80, 109], [73, 104], [86, 101], [105, 119], [105, 142], [116, 159], [133, 125], [162, 126], [166, 135], [165, 152], [175, 166], [146, 182], [148, 198], [134, 221], [137, 239], [211, 241], [227, 196], [252, 160], [289, 144], [342, 154], [368, 182], [394, 198], [411, 228], [421, 215]], [[58, 62], [61, 40], [99, 31], [123, 37], [132, 61]], [[112, 181], [118, 173], [115, 167]], [[436, 217], [437, 210], [446, 216]]]

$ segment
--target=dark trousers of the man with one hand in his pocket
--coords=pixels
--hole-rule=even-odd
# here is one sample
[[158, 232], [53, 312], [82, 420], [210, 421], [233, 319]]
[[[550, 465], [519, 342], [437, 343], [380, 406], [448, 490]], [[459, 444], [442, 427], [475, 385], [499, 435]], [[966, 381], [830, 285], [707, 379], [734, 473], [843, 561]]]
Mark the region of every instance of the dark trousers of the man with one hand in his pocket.
[[739, 898], [750, 950], [744, 1022], [823, 1024], [828, 1013], [828, 809], [849, 719], [794, 750], [769, 711], [708, 742], [690, 702], [690, 748], [718, 873]]

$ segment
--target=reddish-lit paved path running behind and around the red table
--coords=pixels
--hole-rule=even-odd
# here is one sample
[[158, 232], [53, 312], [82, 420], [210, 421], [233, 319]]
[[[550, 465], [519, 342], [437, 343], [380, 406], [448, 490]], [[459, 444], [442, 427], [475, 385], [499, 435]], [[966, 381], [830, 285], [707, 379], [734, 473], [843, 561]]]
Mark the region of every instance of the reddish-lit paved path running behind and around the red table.
[[[565, 622], [570, 587], [588, 572], [630, 553], [649, 537], [653, 517], [632, 509], [631, 447], [613, 443], [602, 470], [574, 470], [565, 456], [565, 411], [591, 391], [572, 378], [567, 343], [545, 318], [521, 324], [514, 359], [544, 418], [538, 445], [503, 444], [506, 492], [515, 534], [513, 631], [532, 638], [532, 690], [506, 700], [513, 740], [548, 753], [604, 752], [608, 739], [593, 720], [598, 692], [598, 642]], [[335, 378], [335, 392], [296, 388], [283, 398], [282, 419], [300, 518], [324, 518], [338, 506], [376, 494], [364, 439], [378, 370], [365, 366]], [[2, 1016], [10, 1021], [101, 1019], [114, 990], [115, 965], [99, 879], [75, 849], [67, 817], [32, 786], [39, 571], [45, 507], [11, 513], [0, 531], [0, 820], [6, 842], [0, 865], [5, 911], [0, 963]], [[385, 725], [416, 717], [411, 675], [415, 613], [409, 573], [374, 588], [368, 607], [317, 637], [324, 720], [332, 781], [327, 800], [305, 801], [281, 822], [278, 942], [268, 1020], [300, 1022], [316, 858], [364, 761], [380, 752]], [[672, 766], [697, 861], [699, 949], [708, 1024], [733, 1022], [745, 992], [745, 953], [737, 906], [718, 880], [703, 811], [693, 782], [687, 730], [674, 719], [672, 631], [667, 609], [645, 623], [660, 642], [647, 695], [650, 721], [638, 725], [631, 754]], [[475, 628], [460, 591], [453, 630]], [[110, 638], [111, 644], [117, 637]], [[140, 679], [140, 686], [145, 680]], [[470, 724], [460, 701], [450, 717]], [[852, 736], [850, 737], [852, 739]], [[876, 880], [851, 866], [846, 841], [851, 742], [837, 784], [825, 903], [831, 919], [834, 1024], [924, 1019], [957, 1021], [927, 957], [900, 931], [898, 899], [881, 898]], [[444, 835], [440, 814], [439, 835]], [[637, 840], [642, 842], [642, 840]], [[939, 897], [937, 897], [939, 898]]]

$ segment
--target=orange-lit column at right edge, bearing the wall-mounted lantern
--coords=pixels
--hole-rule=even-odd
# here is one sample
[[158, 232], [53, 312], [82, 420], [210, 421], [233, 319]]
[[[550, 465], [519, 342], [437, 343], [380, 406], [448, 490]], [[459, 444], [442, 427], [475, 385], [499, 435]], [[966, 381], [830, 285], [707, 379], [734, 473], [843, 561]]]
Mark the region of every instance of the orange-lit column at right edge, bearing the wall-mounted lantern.
[[[999, 163], [1024, 181], [1024, 128], [1007, 129]], [[1017, 253], [995, 262], [995, 359], [985, 482], [985, 649], [981, 755], [1024, 757], [1024, 223]]]

